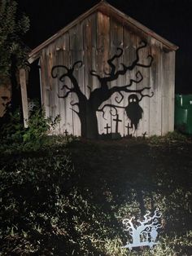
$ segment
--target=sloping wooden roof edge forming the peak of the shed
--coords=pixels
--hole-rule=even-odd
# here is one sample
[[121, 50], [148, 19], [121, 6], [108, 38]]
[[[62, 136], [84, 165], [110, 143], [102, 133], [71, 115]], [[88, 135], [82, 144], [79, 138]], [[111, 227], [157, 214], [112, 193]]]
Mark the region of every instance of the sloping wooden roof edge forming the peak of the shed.
[[55, 33], [55, 35], [53, 35], [51, 38], [47, 39], [45, 42], [42, 42], [41, 45], [33, 49], [33, 51], [31, 51], [28, 55], [28, 62], [33, 63], [33, 61], [37, 60], [37, 58], [41, 55], [41, 50], [44, 47], [48, 46], [51, 42], [54, 42], [55, 39], [59, 38], [61, 35], [63, 35], [63, 33], [66, 33], [73, 26], [80, 23], [82, 20], [85, 20], [89, 15], [93, 14], [96, 11], [101, 11], [103, 12], [103, 14], [111, 15], [112, 17], [123, 21], [124, 24], [128, 24], [129, 26], [140, 30], [142, 33], [146, 33], [146, 35], [151, 36], [152, 38], [155, 38], [159, 42], [163, 43], [164, 46], [166, 46], [170, 51], [177, 51], [178, 49], [178, 46], [174, 45], [172, 42], [169, 42], [165, 38], [162, 38], [151, 29], [148, 29], [146, 28], [146, 26], [139, 23], [137, 20], [134, 20], [133, 18], [129, 17], [129, 15], [124, 14], [115, 7], [112, 7], [108, 2], [102, 0], [97, 5], [89, 9], [89, 11], [86, 11], [84, 14], [77, 17], [76, 20], [72, 21], [72, 23], [68, 24], [63, 29], [60, 29], [59, 32]]

